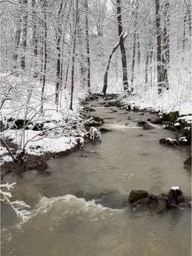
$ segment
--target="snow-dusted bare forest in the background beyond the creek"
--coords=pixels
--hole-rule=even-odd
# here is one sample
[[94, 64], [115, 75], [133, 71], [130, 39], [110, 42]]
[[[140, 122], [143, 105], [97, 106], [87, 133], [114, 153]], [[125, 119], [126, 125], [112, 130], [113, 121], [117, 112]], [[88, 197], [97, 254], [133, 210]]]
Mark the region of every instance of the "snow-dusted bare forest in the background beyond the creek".
[[[117, 83], [122, 81], [122, 88], [157, 86], [162, 93], [172, 83], [175, 52], [188, 69], [184, 56], [191, 41], [190, 3], [78, 0], [76, 21], [76, 0], [3, 0], [1, 67], [40, 82], [42, 102], [47, 81], [54, 84], [57, 108], [61, 92], [68, 93], [71, 105], [75, 86], [95, 90], [98, 56], [102, 93], [113, 76]], [[91, 65], [92, 61], [96, 62]]]

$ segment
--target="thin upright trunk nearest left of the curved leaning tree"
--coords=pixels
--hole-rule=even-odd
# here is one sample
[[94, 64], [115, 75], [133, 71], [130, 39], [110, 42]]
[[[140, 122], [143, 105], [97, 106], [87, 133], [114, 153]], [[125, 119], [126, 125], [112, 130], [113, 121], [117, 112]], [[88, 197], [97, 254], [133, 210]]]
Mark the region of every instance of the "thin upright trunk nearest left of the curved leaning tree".
[[86, 59], [87, 59], [87, 88], [90, 93], [90, 76], [91, 76], [91, 67], [90, 67], [90, 43], [89, 43], [89, 31], [88, 31], [88, 2], [85, 0], [85, 34], [86, 34]]

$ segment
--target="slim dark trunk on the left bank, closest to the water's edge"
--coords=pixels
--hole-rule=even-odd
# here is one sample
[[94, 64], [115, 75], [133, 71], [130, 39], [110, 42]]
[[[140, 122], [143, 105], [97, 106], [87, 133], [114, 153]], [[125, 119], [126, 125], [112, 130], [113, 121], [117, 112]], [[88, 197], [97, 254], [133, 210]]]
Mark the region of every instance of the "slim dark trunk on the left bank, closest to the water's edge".
[[78, 19], [78, 0], [76, 0], [76, 20], [74, 24], [74, 45], [72, 51], [72, 70], [71, 70], [71, 90], [70, 90], [70, 109], [73, 110], [73, 95], [74, 95], [74, 70], [75, 70], [75, 53], [76, 53], [76, 29]]

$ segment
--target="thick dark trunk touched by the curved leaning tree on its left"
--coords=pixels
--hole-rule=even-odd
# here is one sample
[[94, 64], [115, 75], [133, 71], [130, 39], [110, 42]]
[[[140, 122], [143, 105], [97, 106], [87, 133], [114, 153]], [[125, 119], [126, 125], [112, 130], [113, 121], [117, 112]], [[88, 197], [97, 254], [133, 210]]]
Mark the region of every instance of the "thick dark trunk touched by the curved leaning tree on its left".
[[118, 36], [120, 38], [120, 52], [122, 55], [123, 84], [124, 84], [124, 90], [127, 90], [129, 84], [127, 80], [127, 58], [126, 58], [124, 35], [123, 35], [123, 28], [122, 28], [121, 0], [116, 0], [116, 14], [117, 14], [117, 20], [118, 20]]

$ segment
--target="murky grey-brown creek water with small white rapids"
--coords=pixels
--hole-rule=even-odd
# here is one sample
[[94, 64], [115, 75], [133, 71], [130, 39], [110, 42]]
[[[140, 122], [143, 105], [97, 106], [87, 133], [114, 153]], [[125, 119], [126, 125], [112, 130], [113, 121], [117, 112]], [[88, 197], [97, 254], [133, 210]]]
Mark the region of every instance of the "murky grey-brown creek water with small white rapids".
[[159, 144], [175, 136], [161, 126], [149, 131], [137, 126], [153, 115], [116, 108], [111, 113], [99, 102], [91, 102], [93, 115], [111, 130], [102, 134], [102, 143], [49, 160], [51, 175], [34, 170], [5, 178], [17, 181], [13, 196], [31, 204], [32, 212], [20, 224], [2, 207], [2, 255], [191, 255], [189, 209], [155, 214], [124, 207], [131, 189], [158, 195], [180, 186], [189, 195], [191, 172], [183, 164], [189, 148]]

